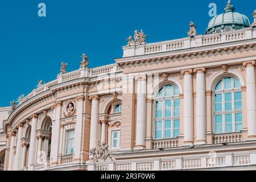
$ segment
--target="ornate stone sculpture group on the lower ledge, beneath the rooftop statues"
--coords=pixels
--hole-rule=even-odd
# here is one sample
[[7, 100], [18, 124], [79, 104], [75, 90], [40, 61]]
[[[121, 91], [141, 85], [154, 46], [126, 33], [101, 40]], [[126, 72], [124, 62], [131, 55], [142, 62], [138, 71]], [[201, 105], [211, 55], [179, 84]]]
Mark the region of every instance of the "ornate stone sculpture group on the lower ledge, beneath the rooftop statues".
[[90, 158], [90, 160], [93, 160], [93, 162], [99, 162], [99, 160], [105, 162], [108, 159], [114, 160], [113, 156], [110, 155], [109, 145], [107, 145], [106, 142], [102, 142], [101, 145], [100, 142], [98, 142], [98, 147], [100, 148], [100, 150], [96, 150], [95, 147], [90, 149], [89, 155], [92, 155], [92, 158]]

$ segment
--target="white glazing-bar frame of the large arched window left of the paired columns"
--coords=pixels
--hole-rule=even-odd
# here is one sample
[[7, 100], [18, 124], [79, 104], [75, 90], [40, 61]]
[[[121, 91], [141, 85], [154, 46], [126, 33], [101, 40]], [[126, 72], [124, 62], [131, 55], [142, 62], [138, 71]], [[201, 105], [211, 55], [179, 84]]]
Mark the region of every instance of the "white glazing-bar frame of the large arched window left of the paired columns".
[[[172, 95], [171, 96], [164, 96], [165, 87], [167, 85], [172, 85]], [[160, 89], [158, 90], [158, 93], [159, 93], [160, 90], [163, 89], [163, 96], [158, 97], [158, 93], [156, 94], [156, 98], [155, 98], [155, 101], [154, 101], [154, 127], [153, 127], [154, 140], [177, 138], [177, 137], [174, 137], [174, 130], [178, 129], [178, 128], [174, 128], [174, 121], [179, 120], [179, 125], [180, 125], [180, 106], [179, 106], [179, 115], [174, 116], [174, 110], [175, 110], [175, 108], [176, 109], [178, 108], [178, 107], [174, 107], [174, 101], [179, 100], [179, 102], [180, 102], [180, 95], [178, 94], [178, 95], [174, 96], [174, 89], [173, 89], [174, 86], [176, 86], [179, 89], [179, 87], [175, 84], [172, 84], [172, 83], [165, 84], [165, 85], [161, 86]], [[171, 100], [171, 117], [164, 117], [165, 111], [166, 111], [165, 103], [166, 103], [167, 100]], [[162, 101], [162, 118], [156, 118], [156, 102], [157, 101]], [[162, 121], [162, 137], [161, 138], [156, 138], [156, 122], [158, 122], [158, 121]], [[165, 127], [166, 122], [165, 121], [171, 121], [171, 137], [165, 137], [165, 130], [166, 130], [166, 127]], [[180, 127], [179, 127], [179, 131], [180, 131]]]

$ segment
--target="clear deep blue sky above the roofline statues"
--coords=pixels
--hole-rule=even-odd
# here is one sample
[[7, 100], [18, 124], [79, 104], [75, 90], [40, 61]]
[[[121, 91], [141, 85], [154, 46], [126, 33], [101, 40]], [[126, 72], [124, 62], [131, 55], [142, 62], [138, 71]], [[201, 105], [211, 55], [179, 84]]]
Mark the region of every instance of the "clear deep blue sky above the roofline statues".
[[[38, 16], [38, 4], [46, 4], [46, 17]], [[227, 0], [8, 0], [0, 3], [0, 106], [10, 106], [28, 94], [38, 80], [55, 80], [60, 63], [68, 72], [79, 68], [82, 53], [90, 68], [114, 63], [134, 30], [143, 28], [147, 42], [184, 38], [189, 22], [204, 34], [209, 3], [217, 14]], [[236, 11], [253, 21], [255, 0], [233, 0]]]

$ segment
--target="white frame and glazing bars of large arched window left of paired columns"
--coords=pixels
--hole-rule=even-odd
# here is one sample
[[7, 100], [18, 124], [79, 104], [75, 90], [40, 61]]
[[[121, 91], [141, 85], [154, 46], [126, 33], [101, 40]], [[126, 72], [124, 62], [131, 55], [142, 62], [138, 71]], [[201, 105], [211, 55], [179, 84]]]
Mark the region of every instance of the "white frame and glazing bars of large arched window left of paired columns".
[[[171, 96], [166, 96], [166, 86], [171, 85], [172, 86], [172, 94]], [[175, 88], [176, 87], [176, 88]], [[176, 91], [177, 94], [175, 95], [175, 89], [177, 89]], [[162, 92], [162, 96], [158, 97], [158, 94]], [[171, 100], [171, 116], [170, 117], [166, 117], [166, 101], [170, 101]], [[179, 101], [179, 107], [175, 107], [175, 101], [178, 100]], [[156, 105], [159, 101], [162, 101], [162, 117], [157, 118], [156, 117]], [[179, 109], [179, 115], [175, 115], [175, 109]], [[169, 84], [165, 84], [163, 86], [161, 86], [155, 96], [155, 100], [154, 100], [154, 127], [153, 127], [153, 137], [154, 140], [165, 140], [165, 139], [174, 139], [177, 138], [179, 136], [175, 136], [175, 130], [179, 130], [179, 135], [180, 135], [180, 91], [179, 91], [179, 86], [177, 86], [176, 84], [173, 83], [169, 83]], [[179, 121], [179, 128], [174, 128], [174, 122], [175, 121]], [[167, 121], [171, 121], [171, 128], [167, 129], [166, 128], [166, 122]], [[157, 122], [162, 122], [162, 129], [159, 129], [159, 131], [161, 131], [161, 138], [156, 138], [156, 123]], [[171, 130], [171, 137], [166, 137], [166, 130]]]

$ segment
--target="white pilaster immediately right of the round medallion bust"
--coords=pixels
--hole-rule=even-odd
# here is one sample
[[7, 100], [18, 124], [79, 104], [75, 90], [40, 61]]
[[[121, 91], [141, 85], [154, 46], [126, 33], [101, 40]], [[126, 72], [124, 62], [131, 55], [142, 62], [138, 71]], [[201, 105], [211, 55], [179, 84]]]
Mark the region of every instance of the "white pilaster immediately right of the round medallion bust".
[[80, 160], [81, 146], [82, 146], [82, 110], [84, 108], [84, 96], [76, 97], [77, 101], [77, 114], [76, 114], [76, 128], [75, 128], [75, 146], [74, 146], [74, 159]]

